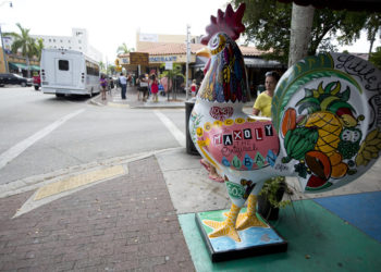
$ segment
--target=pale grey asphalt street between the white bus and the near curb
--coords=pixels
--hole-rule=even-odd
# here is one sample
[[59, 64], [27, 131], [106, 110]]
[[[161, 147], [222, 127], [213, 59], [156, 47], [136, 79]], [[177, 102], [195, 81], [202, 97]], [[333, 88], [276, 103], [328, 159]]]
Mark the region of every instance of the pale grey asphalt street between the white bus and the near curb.
[[[32, 87], [0, 88], [0, 185], [181, 146], [158, 110], [97, 107], [88, 98], [56, 98]], [[159, 112], [185, 133], [183, 109]]]

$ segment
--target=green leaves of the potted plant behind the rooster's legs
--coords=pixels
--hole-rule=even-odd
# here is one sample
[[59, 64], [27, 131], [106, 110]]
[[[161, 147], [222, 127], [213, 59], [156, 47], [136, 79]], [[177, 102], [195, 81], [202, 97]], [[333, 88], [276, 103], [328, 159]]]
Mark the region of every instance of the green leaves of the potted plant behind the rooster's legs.
[[284, 176], [272, 177], [265, 182], [259, 195], [265, 196], [274, 208], [284, 208], [287, 205], [291, 205], [291, 201], [278, 199], [278, 190], [281, 187], [284, 187], [284, 190], [287, 191], [287, 184], [285, 183]]

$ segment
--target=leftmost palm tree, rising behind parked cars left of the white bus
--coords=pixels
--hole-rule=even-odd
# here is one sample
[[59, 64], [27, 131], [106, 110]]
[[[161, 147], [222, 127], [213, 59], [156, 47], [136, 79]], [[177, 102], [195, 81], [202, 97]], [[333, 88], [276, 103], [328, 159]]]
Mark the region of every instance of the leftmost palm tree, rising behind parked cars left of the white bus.
[[36, 44], [35, 39], [29, 36], [29, 30], [27, 28], [23, 28], [20, 23], [16, 24], [21, 34], [17, 33], [7, 33], [4, 35], [9, 35], [14, 38], [12, 44], [12, 53], [17, 53], [21, 49], [21, 53], [26, 58], [26, 65], [28, 66], [28, 77], [30, 77], [29, 70], [29, 58], [35, 55], [36, 53]]

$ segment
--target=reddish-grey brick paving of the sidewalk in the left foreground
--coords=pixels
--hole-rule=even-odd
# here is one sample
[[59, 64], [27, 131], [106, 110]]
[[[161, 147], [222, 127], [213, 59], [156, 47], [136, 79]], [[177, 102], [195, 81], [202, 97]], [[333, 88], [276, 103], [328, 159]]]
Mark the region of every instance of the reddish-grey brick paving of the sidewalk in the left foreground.
[[33, 191], [0, 199], [0, 271], [194, 271], [155, 157], [11, 219]]

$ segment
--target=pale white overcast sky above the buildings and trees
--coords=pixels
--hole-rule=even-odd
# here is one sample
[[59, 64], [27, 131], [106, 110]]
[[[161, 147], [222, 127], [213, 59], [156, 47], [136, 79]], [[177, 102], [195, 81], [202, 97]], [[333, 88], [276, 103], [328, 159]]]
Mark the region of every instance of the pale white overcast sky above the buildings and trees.
[[[71, 36], [72, 28], [86, 28], [89, 44], [110, 63], [123, 42], [136, 48], [137, 29], [145, 34], [204, 35], [210, 15], [225, 10], [226, 0], [0, 0], [2, 32], [30, 29], [30, 35]], [[377, 42], [376, 46], [380, 46]], [[341, 48], [342, 49], [342, 48]], [[349, 52], [368, 52], [365, 35]]]

